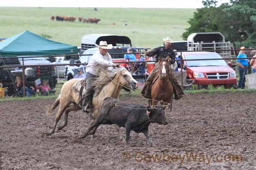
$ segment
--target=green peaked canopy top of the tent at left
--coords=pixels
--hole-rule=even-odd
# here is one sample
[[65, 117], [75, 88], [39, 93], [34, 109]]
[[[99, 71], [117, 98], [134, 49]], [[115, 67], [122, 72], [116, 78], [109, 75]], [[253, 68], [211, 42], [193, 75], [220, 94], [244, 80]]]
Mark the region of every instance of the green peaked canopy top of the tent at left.
[[76, 53], [78, 53], [77, 46], [52, 41], [29, 31], [24, 31], [0, 42], [0, 55], [2, 57]]

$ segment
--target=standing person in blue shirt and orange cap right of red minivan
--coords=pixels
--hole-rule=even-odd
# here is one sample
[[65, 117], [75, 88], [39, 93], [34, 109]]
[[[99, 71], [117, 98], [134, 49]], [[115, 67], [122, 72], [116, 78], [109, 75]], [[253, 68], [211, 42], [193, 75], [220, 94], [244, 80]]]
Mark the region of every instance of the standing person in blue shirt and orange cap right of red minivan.
[[[245, 47], [241, 46], [239, 54], [237, 58], [247, 58], [247, 55], [244, 51]], [[239, 82], [238, 82], [238, 88], [244, 89], [245, 87], [245, 74], [247, 71], [248, 59], [237, 59], [237, 65], [238, 65], [238, 71], [239, 71]]]

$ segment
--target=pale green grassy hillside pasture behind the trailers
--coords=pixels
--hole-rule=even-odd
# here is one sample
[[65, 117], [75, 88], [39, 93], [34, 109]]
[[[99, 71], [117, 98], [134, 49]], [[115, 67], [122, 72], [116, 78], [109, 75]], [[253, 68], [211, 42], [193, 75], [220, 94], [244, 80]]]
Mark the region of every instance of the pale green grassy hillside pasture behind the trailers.
[[[25, 8], [0, 7], [0, 37], [11, 37], [29, 30], [50, 36], [51, 40], [80, 46], [84, 34], [121, 34], [131, 38], [133, 46], [153, 48], [163, 37], [182, 40], [195, 9], [148, 8]], [[77, 17], [76, 22], [50, 20], [52, 15]], [[98, 24], [79, 23], [78, 17], [97, 17]], [[112, 26], [111, 23], [116, 25]], [[128, 26], [123, 24], [127, 23]]]

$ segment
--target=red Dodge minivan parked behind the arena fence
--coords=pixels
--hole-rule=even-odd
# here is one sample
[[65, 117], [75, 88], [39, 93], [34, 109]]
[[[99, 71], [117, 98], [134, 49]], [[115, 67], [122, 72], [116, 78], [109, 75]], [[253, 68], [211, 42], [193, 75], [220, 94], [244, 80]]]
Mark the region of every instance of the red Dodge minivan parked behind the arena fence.
[[236, 71], [215, 52], [182, 52], [183, 59], [219, 59], [184, 61], [188, 79], [194, 79], [196, 85], [224, 85], [236, 88]]

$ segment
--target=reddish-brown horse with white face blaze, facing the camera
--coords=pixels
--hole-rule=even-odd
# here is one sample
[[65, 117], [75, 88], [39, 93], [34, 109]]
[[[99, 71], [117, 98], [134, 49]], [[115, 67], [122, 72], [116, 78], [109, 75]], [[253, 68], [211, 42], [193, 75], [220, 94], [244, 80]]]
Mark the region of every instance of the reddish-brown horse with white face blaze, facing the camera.
[[[166, 103], [171, 103], [173, 94], [173, 85], [170, 81], [170, 76], [172, 76], [171, 68], [168, 63], [169, 57], [166, 59], [161, 59], [159, 57], [159, 74], [158, 78], [154, 80], [151, 88], [151, 99], [149, 100], [149, 105], [157, 105], [158, 101], [163, 105], [163, 109], [166, 108]], [[163, 101], [163, 102], [162, 102]]]

